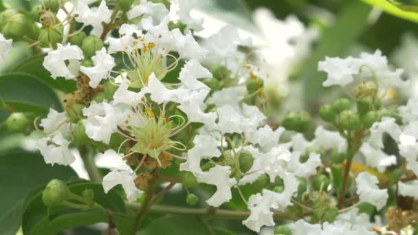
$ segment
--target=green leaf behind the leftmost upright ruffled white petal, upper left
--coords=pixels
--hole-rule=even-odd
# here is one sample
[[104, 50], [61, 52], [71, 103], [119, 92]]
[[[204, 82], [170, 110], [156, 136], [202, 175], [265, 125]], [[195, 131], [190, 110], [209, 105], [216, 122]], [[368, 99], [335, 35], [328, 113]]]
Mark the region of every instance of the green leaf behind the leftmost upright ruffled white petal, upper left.
[[32, 56], [23, 60], [19, 65], [14, 67], [12, 71], [23, 72], [26, 74], [35, 74], [37, 78], [45, 82], [50, 87], [70, 93], [76, 90], [76, 81], [65, 80], [65, 78], [52, 78], [51, 74], [43, 67], [44, 55]]

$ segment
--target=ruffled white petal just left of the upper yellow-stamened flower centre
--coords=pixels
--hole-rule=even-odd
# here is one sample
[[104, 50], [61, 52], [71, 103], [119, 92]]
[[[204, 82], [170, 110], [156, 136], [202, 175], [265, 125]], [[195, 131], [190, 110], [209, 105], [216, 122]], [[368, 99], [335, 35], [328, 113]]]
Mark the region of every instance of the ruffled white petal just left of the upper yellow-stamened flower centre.
[[96, 52], [96, 55], [91, 57], [94, 67], [80, 67], [85, 75], [90, 78], [90, 87], [96, 88], [102, 79], [109, 78], [110, 71], [115, 67], [115, 58], [107, 54], [106, 48], [102, 48]]

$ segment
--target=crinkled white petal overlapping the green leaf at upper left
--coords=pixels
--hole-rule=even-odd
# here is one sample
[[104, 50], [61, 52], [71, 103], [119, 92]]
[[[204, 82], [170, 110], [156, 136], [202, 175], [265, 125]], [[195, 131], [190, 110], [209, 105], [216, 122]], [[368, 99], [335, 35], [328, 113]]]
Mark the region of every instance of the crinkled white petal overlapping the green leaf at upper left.
[[[43, 67], [50, 71], [52, 78], [64, 77], [65, 79], [75, 80], [77, 71], [72, 71], [70, 68], [78, 67], [80, 60], [83, 60], [84, 55], [80, 47], [76, 45], [61, 45], [57, 44], [57, 49], [48, 52], [43, 60]], [[65, 64], [68, 61], [69, 65]], [[78, 66], [74, 66], [78, 65]]]

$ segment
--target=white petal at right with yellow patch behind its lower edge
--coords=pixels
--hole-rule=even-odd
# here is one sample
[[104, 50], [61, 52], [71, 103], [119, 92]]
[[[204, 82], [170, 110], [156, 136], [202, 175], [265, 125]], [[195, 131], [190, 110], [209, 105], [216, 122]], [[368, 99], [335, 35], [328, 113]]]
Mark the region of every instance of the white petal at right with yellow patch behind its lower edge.
[[364, 156], [366, 165], [376, 168], [379, 172], [384, 172], [388, 166], [397, 163], [395, 155], [388, 155], [380, 148], [373, 148], [368, 142], [362, 144], [360, 153]]

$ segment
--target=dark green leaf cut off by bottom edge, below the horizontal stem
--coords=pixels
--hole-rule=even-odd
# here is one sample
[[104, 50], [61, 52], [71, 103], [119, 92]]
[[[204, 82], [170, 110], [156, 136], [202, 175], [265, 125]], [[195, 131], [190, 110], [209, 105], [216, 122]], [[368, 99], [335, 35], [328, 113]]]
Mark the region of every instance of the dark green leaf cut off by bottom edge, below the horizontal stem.
[[210, 235], [205, 224], [196, 217], [165, 216], [156, 219], [138, 235], [170, 234], [170, 235]]

